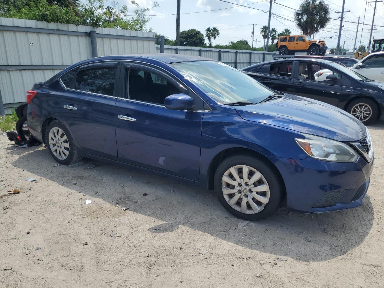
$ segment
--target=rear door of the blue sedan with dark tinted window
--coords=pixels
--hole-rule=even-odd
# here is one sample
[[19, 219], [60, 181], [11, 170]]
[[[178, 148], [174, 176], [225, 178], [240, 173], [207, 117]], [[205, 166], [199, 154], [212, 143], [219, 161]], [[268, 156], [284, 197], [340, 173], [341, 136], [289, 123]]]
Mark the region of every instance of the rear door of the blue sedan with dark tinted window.
[[[119, 61], [81, 66], [61, 96], [61, 111], [84, 152], [117, 160], [115, 117]], [[64, 84], [66, 82], [66, 84]]]

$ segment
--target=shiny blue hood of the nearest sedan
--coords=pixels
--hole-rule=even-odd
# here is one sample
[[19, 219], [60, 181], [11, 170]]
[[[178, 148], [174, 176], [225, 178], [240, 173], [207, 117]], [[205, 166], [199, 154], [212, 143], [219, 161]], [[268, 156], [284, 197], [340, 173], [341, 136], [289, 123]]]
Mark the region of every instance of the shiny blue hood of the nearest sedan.
[[233, 108], [241, 118], [248, 121], [342, 142], [358, 141], [366, 133], [364, 124], [345, 111], [320, 101], [290, 94], [277, 100]]

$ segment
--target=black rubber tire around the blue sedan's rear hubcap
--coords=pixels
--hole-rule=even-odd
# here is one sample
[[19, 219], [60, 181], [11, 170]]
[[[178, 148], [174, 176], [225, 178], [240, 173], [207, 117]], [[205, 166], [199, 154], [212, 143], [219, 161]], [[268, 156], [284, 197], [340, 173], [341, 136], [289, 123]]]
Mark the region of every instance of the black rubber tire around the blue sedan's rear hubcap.
[[[51, 145], [49, 143], [49, 140], [50, 140], [50, 131], [54, 127], [60, 128], [65, 133], [65, 136], [67, 137], [67, 140], [63, 141], [63, 143], [65, 142], [65, 144], [69, 145], [69, 153], [68, 153], [68, 155], [66, 156], [65, 159], [59, 159], [52, 152], [52, 148], [51, 148]], [[73, 141], [71, 133], [68, 131], [68, 129], [65, 127], [65, 125], [62, 122], [60, 122], [59, 120], [52, 121], [48, 125], [47, 131], [46, 131], [46, 134], [45, 134], [45, 144], [48, 147], [48, 150], [49, 150], [51, 156], [53, 157], [53, 159], [55, 159], [55, 161], [60, 163], [60, 164], [69, 165], [71, 163], [79, 162], [83, 158], [78, 153], [78, 149], [76, 148], [76, 145], [74, 144], [74, 141]], [[53, 145], [55, 146], [55, 144], [53, 144]]]

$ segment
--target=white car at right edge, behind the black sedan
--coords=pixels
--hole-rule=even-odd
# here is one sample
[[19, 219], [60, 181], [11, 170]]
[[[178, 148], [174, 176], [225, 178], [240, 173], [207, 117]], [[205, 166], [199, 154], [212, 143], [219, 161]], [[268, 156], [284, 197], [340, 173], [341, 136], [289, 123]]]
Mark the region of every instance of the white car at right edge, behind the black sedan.
[[365, 56], [350, 69], [369, 79], [384, 82], [384, 51]]

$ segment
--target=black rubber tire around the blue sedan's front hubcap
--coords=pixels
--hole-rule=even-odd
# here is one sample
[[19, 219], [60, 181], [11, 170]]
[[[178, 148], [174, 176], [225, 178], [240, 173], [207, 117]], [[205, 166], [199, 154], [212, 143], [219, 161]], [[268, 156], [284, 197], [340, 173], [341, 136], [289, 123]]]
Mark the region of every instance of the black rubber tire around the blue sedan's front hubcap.
[[[270, 199], [269, 202], [265, 204], [264, 209], [258, 213], [245, 214], [232, 208], [223, 195], [222, 177], [228, 169], [237, 165], [247, 165], [253, 169], [256, 169], [263, 175], [266, 182], [268, 183], [270, 189]], [[272, 169], [270, 165], [266, 164], [260, 159], [243, 154], [230, 156], [219, 164], [214, 176], [214, 187], [218, 200], [228, 212], [235, 215], [236, 217], [250, 221], [262, 220], [272, 215], [279, 208], [285, 196], [284, 185], [278, 175], [276, 175], [274, 169]]]

